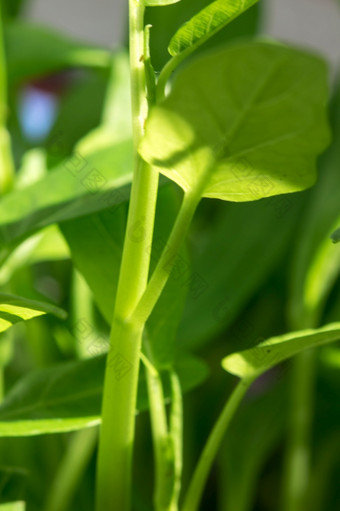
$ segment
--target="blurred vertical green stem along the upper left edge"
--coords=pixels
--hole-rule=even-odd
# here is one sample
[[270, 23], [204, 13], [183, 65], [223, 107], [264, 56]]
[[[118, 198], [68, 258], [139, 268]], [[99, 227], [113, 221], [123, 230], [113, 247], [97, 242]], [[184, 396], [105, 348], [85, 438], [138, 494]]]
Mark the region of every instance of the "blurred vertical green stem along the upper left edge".
[[4, 48], [3, 15], [0, 3], [0, 194], [11, 190], [14, 180], [14, 163], [11, 139], [6, 128], [7, 110], [7, 68]]

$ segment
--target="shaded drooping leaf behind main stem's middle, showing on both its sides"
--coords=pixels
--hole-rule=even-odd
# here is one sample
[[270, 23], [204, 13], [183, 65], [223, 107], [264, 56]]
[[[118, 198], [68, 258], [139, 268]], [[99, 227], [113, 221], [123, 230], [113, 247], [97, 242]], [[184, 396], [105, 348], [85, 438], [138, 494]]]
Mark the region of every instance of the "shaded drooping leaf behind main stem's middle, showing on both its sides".
[[[152, 268], [166, 244], [178, 211], [178, 197], [172, 183], [159, 190], [156, 225], [151, 254]], [[108, 324], [112, 321], [120, 260], [125, 237], [127, 207], [103, 211], [64, 222], [61, 231], [70, 247], [72, 259], [93, 292], [94, 299]], [[130, 235], [140, 236], [139, 225]], [[152, 271], [152, 270], [151, 270]], [[174, 340], [191, 279], [188, 255], [183, 250], [176, 268], [148, 323], [148, 356], [158, 369], [171, 365]]]

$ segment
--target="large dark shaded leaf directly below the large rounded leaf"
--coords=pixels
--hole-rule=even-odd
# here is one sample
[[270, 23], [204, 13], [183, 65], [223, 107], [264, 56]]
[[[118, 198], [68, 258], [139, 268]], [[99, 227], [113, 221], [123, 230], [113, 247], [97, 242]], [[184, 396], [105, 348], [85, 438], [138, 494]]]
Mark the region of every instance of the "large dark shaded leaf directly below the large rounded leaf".
[[196, 287], [189, 291], [180, 324], [181, 345], [202, 346], [236, 320], [286, 256], [301, 210], [298, 199], [286, 195], [242, 204], [221, 202], [214, 204], [218, 209], [213, 222], [209, 212], [205, 219], [198, 211], [190, 251]]

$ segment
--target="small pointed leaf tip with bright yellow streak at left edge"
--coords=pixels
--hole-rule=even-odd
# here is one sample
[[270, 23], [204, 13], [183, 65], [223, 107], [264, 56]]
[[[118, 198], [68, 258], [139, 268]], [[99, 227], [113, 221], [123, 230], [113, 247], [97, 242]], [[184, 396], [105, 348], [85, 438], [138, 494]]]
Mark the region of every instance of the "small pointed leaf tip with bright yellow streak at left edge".
[[49, 303], [0, 293], [0, 332], [4, 332], [20, 321], [27, 321], [44, 314], [54, 314], [61, 319], [66, 318], [63, 310]]

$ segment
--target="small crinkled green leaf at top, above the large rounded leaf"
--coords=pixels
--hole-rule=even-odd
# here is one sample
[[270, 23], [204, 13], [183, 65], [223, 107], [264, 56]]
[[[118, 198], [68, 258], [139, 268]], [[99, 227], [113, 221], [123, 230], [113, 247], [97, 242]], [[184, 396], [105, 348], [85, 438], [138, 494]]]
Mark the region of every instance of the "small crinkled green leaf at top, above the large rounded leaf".
[[198, 46], [228, 25], [258, 0], [216, 0], [185, 23], [170, 41], [172, 56]]

